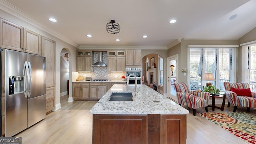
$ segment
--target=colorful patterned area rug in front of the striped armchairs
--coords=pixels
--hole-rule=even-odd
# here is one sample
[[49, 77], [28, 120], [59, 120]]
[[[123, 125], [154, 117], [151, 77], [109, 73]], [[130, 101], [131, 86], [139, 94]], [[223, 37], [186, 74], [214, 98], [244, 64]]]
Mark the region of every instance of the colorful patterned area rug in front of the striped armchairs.
[[246, 112], [203, 112], [200, 116], [249, 144], [256, 144], [256, 116]]

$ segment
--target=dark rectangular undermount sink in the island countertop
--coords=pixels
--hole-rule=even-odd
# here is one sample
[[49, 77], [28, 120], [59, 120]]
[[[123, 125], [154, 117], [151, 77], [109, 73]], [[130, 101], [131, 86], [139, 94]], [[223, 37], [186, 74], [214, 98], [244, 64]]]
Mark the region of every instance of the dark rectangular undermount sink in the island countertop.
[[116, 102], [116, 101], [134, 101], [132, 97], [132, 93], [112, 93], [108, 101]]

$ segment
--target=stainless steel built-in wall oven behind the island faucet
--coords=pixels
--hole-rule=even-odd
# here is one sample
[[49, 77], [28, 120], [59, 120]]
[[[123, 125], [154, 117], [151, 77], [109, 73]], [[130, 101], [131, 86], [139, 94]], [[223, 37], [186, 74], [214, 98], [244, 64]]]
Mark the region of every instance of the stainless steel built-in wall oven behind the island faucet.
[[[126, 70], [126, 80], [127, 80], [127, 77], [130, 74], [134, 74], [136, 76], [136, 79], [137, 79], [137, 84], [141, 84], [141, 69], [142, 68], [125, 68], [125, 70]], [[135, 84], [135, 77], [134, 76], [130, 76], [129, 84]]]

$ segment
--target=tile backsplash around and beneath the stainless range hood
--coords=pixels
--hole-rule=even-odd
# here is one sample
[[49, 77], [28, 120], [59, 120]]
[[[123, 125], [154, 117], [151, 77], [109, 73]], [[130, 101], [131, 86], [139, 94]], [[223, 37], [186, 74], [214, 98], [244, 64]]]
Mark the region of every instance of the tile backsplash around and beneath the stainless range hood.
[[[108, 65], [107, 52], [103, 52], [102, 61]], [[93, 63], [98, 62], [98, 52], [93, 52]], [[108, 67], [96, 66], [94, 72], [79, 72], [79, 76], [92, 77], [92, 79], [121, 80], [125, 72], [108, 72]]]

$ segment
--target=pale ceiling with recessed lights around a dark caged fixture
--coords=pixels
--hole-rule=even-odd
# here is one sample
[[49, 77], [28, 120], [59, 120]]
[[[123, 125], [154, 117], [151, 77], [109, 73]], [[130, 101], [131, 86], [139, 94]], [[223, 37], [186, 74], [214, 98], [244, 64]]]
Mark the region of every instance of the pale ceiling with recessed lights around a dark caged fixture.
[[[256, 0], [1, 0], [0, 8], [72, 44], [168, 47], [238, 40], [256, 27]], [[230, 16], [237, 17], [230, 20]], [[50, 22], [55, 18], [57, 22]], [[169, 21], [177, 22], [170, 24]], [[120, 24], [118, 34], [106, 23]], [[91, 34], [92, 37], [87, 37]], [[148, 36], [142, 38], [143, 35]], [[120, 41], [116, 41], [116, 39]]]

